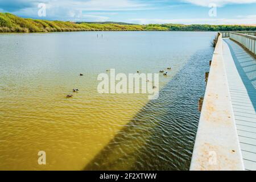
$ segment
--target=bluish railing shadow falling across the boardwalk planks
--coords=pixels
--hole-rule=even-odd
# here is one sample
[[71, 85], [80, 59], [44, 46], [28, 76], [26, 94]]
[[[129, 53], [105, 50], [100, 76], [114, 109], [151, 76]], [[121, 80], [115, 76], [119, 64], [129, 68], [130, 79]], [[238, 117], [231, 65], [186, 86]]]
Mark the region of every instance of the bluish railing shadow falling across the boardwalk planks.
[[237, 71], [256, 111], [256, 60], [240, 45], [230, 39], [225, 39], [232, 54]]

